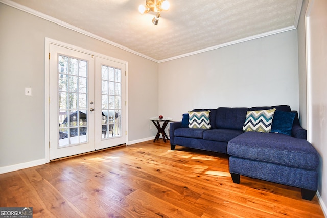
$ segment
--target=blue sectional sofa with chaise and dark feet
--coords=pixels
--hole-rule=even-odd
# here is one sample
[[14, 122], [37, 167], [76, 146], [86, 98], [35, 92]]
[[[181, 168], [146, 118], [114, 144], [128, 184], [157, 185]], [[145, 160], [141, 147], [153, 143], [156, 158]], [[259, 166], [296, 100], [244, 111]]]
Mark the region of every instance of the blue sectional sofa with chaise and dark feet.
[[[249, 111], [269, 109], [275, 109], [273, 131], [243, 131]], [[307, 141], [307, 131], [300, 126], [297, 111], [291, 111], [288, 105], [193, 111], [208, 110], [209, 129], [189, 128], [187, 114], [183, 114], [181, 122], [170, 124], [171, 150], [179, 145], [226, 153], [234, 183], [240, 183], [240, 175], [243, 175], [295, 186], [301, 188], [303, 199], [312, 200], [317, 191], [319, 154]], [[289, 117], [281, 114], [294, 114], [291, 126], [286, 125]], [[277, 122], [278, 127], [284, 128], [282, 131]]]

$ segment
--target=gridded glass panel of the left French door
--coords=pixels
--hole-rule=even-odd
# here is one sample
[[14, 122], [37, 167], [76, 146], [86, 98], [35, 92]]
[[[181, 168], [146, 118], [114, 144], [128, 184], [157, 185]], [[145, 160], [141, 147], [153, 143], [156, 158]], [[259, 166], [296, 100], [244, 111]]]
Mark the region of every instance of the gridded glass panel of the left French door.
[[88, 141], [87, 61], [58, 56], [59, 147]]

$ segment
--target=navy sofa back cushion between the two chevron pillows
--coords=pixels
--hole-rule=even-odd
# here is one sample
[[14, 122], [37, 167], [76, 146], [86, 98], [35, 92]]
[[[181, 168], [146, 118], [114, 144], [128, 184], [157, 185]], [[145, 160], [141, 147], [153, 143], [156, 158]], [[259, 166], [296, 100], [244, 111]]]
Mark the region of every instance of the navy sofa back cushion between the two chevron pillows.
[[242, 130], [248, 110], [249, 108], [218, 108], [216, 128]]

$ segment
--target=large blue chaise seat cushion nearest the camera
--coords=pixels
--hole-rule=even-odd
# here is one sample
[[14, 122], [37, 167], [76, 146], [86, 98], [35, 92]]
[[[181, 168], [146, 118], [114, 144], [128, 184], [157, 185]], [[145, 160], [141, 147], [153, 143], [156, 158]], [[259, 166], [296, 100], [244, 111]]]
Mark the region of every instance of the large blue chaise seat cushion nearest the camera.
[[227, 153], [310, 170], [319, 164], [318, 153], [307, 140], [279, 133], [245, 132], [228, 142]]

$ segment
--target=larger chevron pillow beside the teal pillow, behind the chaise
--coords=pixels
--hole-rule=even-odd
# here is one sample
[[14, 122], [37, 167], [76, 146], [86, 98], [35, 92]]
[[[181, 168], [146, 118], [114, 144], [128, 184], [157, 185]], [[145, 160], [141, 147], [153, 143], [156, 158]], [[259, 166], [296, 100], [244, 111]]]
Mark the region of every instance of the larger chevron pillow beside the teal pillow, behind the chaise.
[[243, 126], [244, 132], [270, 132], [276, 108], [270, 110], [247, 111]]

